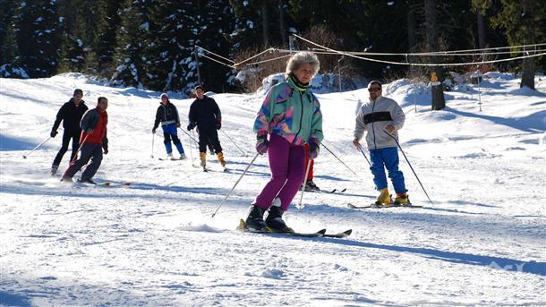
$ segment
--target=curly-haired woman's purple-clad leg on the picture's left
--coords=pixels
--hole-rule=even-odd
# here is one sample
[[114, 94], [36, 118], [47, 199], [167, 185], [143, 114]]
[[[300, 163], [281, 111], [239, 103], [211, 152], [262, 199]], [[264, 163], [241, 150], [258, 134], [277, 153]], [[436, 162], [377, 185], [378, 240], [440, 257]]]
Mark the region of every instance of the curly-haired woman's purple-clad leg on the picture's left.
[[269, 179], [269, 183], [263, 187], [254, 201], [261, 209], [269, 209], [271, 202], [285, 185], [288, 176], [289, 155], [290, 143], [283, 137], [271, 134], [268, 148], [271, 179]]

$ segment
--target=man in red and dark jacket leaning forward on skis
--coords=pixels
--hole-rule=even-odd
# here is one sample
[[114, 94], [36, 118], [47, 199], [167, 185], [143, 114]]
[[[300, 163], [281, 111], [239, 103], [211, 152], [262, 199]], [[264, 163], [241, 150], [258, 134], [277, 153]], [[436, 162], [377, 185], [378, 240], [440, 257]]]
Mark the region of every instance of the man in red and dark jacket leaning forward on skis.
[[[64, 172], [61, 181], [72, 183], [72, 177], [81, 167], [85, 166], [91, 159], [91, 163], [78, 180], [80, 183], [94, 183], [92, 178], [97, 173], [102, 162], [102, 154], [108, 153], [107, 139], [107, 115], [108, 99], [99, 97], [97, 107], [91, 109], [81, 118], [81, 156]], [[102, 147], [102, 148], [101, 148]]]

